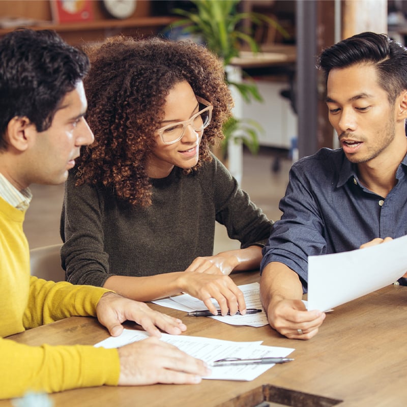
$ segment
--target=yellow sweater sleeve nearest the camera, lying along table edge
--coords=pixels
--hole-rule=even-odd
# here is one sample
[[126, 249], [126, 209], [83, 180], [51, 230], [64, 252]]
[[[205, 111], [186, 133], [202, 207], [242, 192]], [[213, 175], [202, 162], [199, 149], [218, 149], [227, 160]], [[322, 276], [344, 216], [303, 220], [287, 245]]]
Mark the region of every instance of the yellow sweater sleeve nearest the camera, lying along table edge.
[[115, 386], [120, 363], [117, 349], [75, 346], [28, 346], [0, 339], [0, 398], [27, 391], [47, 393], [78, 387]]

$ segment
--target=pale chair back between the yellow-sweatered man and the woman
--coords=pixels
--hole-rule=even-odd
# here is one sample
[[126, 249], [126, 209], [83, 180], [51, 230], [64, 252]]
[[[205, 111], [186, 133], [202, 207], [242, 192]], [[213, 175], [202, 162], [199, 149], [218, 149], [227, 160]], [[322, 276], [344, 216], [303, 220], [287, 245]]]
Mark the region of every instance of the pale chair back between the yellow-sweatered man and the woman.
[[62, 243], [30, 250], [31, 274], [52, 281], [65, 281], [65, 270], [61, 266]]

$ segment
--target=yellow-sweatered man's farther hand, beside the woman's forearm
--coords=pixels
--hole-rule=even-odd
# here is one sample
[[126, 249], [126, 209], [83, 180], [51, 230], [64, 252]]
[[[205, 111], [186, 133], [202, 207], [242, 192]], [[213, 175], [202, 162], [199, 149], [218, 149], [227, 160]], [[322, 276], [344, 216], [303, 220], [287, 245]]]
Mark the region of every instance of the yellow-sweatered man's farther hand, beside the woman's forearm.
[[157, 337], [161, 336], [157, 327], [172, 335], [187, 329], [180, 319], [153, 311], [147, 304], [112, 292], [103, 294], [96, 306], [96, 314], [112, 336], [119, 336], [123, 332], [122, 323], [127, 320], [136, 322], [150, 335]]

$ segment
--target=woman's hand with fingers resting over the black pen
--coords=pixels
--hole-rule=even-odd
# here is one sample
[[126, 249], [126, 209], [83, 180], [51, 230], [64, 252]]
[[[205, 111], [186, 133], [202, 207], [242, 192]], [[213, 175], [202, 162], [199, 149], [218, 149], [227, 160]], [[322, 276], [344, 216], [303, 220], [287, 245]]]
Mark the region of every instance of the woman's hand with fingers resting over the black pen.
[[211, 298], [215, 299], [222, 315], [230, 310], [230, 315], [240, 311], [246, 313], [246, 303], [242, 291], [229, 276], [208, 273], [181, 273], [178, 286], [182, 292], [203, 301], [207, 308], [217, 315]]

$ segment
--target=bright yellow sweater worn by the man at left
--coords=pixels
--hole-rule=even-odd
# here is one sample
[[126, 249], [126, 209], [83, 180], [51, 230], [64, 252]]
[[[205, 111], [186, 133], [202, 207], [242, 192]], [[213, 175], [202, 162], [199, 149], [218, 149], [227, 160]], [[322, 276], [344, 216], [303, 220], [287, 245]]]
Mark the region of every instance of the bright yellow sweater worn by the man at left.
[[93, 346], [27, 346], [5, 336], [72, 315], [95, 316], [106, 290], [30, 276], [25, 212], [0, 197], [0, 398], [27, 391], [117, 385], [117, 350]]

